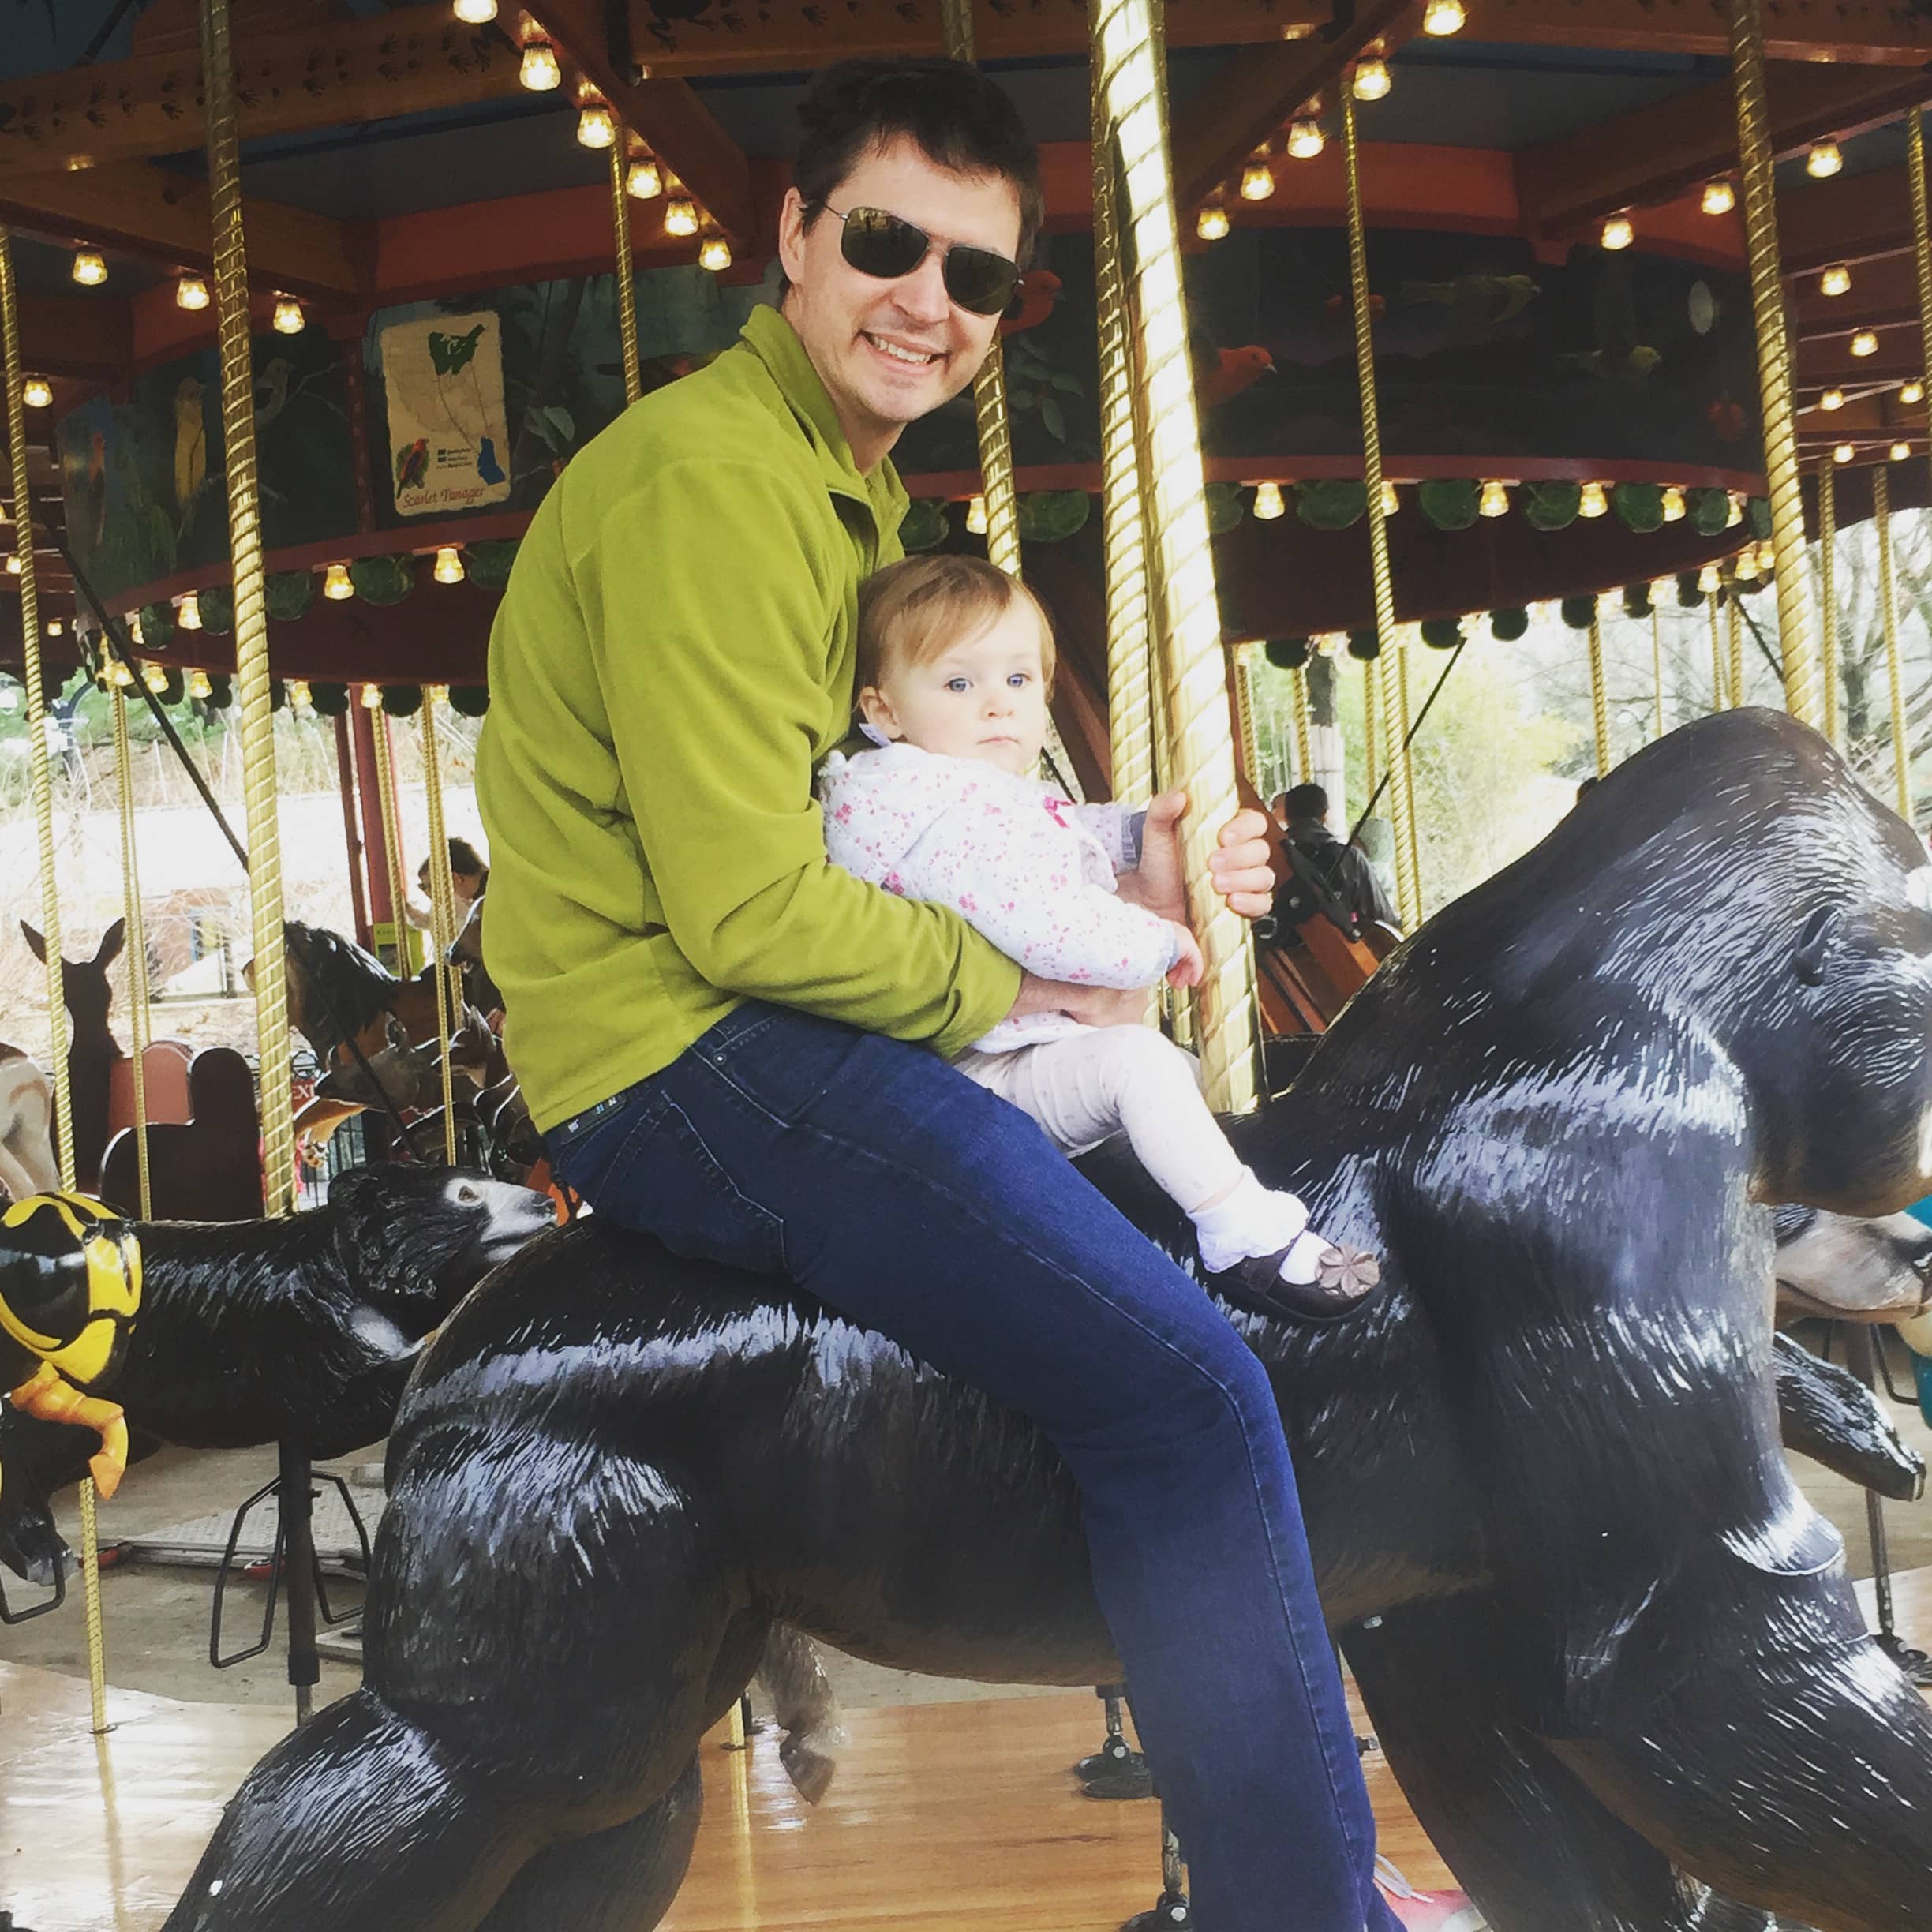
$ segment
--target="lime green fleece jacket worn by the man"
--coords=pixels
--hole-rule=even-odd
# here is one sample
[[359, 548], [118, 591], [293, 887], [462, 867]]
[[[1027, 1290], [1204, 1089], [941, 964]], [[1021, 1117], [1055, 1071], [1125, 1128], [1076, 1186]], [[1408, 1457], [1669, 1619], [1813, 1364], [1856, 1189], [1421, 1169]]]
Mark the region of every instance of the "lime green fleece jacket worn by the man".
[[1018, 968], [825, 858], [817, 763], [852, 723], [858, 587], [906, 493], [862, 475], [790, 323], [564, 469], [491, 632], [477, 752], [485, 962], [539, 1128], [657, 1072], [746, 999], [954, 1055]]

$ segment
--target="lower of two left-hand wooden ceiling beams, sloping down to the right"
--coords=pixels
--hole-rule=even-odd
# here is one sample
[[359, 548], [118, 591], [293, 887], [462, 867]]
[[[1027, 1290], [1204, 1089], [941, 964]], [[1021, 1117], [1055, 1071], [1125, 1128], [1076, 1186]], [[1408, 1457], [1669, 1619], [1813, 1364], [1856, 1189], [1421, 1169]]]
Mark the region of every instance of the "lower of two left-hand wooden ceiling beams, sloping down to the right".
[[[207, 182], [122, 160], [77, 174], [0, 174], [0, 220], [52, 242], [91, 242], [178, 269], [211, 267], [214, 214]], [[354, 299], [375, 270], [375, 234], [309, 209], [242, 203], [249, 274], [292, 296]]]

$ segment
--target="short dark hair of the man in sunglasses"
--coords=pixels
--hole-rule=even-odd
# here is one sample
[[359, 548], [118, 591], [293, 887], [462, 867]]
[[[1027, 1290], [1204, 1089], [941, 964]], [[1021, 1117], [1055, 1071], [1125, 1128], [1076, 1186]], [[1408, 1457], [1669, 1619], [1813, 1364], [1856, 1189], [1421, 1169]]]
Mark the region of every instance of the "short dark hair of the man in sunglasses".
[[1045, 214], [1039, 149], [999, 83], [962, 60], [842, 60], [798, 106], [804, 139], [792, 185], [810, 226], [827, 197], [875, 147], [912, 141], [954, 174], [995, 174], [1020, 197], [1020, 267]]

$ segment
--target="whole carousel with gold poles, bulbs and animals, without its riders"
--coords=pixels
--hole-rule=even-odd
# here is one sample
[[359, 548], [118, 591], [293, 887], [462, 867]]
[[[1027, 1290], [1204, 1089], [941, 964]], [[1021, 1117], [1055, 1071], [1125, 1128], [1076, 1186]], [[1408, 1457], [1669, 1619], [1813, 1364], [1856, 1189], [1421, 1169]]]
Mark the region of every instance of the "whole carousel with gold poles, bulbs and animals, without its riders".
[[[549, 489], [777, 299], [806, 77], [943, 52], [1014, 95], [1047, 209], [972, 390], [896, 446], [900, 535], [1049, 607], [1070, 798], [1188, 794], [1204, 974], [1150, 1024], [1258, 1173], [1296, 1150], [1323, 1227], [1383, 1256], [1358, 1327], [1229, 1316], [1283, 1408], [1387, 1891], [1439, 1932], [1932, 1928], [1932, 1573], [1891, 1575], [1882, 1515], [1924, 1466], [1872, 1341], [1903, 1321], [1932, 1354], [1932, 1238], [1899, 1213], [1932, 1192], [1932, 869], [1891, 539], [1932, 502], [1932, 14], [14, 12], [0, 670], [39, 896], [8, 910], [48, 1049], [0, 1045], [0, 1627], [81, 1619], [89, 1673], [0, 1636], [0, 1926], [1192, 1924], [1057, 1457], [952, 1385], [912, 1441], [933, 1399], [883, 1337], [576, 1211], [442, 788]], [[1839, 539], [1864, 522], [1884, 798], [1841, 755]], [[1451, 898], [1414, 748], [1464, 653], [1551, 601], [1602, 782]], [[1611, 717], [1617, 607], [1652, 636], [1640, 750]], [[1667, 609], [1694, 697], [1665, 686]], [[1758, 659], [1781, 713], [1745, 703]], [[1401, 931], [1287, 838], [1260, 933], [1213, 893], [1219, 827], [1273, 790], [1262, 663], [1293, 779], [1337, 804], [1358, 680], [1347, 817], [1387, 821]], [[60, 765], [87, 690], [124, 891], [75, 935]], [[234, 721], [240, 815], [189, 703]], [[332, 740], [344, 931], [284, 895], [284, 711]], [[253, 1053], [155, 1037], [143, 717], [245, 881]], [[1132, 1161], [1090, 1173], [1200, 1271]], [[1841, 1323], [1849, 1372], [1774, 1331], [1768, 1273], [1781, 1316]], [[726, 1364], [721, 1323], [777, 1339]], [[763, 1443], [852, 1350], [866, 1399]], [[595, 1420], [612, 1389], [636, 1428]], [[659, 1428], [692, 1405], [709, 1447]], [[315, 1708], [313, 1463], [384, 1439], [367, 1677]], [[585, 1443], [674, 1507], [585, 1528]], [[114, 1685], [99, 1553], [162, 1445], [274, 1449], [255, 1652], [286, 1644], [294, 1729]], [[1861, 1594], [1785, 1449], [1866, 1492]], [[943, 1553], [935, 1497], [964, 1524]], [[1059, 1690], [840, 1716], [817, 1638]]]

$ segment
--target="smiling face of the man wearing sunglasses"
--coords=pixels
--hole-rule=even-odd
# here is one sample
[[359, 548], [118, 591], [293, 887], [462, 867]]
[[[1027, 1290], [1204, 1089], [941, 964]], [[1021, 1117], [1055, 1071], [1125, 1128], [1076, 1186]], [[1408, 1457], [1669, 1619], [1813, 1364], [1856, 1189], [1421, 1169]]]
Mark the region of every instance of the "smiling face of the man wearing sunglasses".
[[1020, 197], [1010, 182], [954, 174], [912, 141], [873, 149], [831, 197], [838, 214], [883, 209], [933, 238], [925, 261], [885, 282], [852, 269], [844, 224], [806, 207], [794, 187], [779, 216], [779, 257], [790, 280], [784, 315], [831, 396], [852, 456], [869, 469], [906, 423], [956, 396], [985, 361], [997, 315], [974, 315], [947, 294], [941, 251], [954, 242], [1014, 255]]

